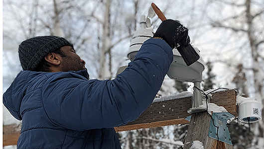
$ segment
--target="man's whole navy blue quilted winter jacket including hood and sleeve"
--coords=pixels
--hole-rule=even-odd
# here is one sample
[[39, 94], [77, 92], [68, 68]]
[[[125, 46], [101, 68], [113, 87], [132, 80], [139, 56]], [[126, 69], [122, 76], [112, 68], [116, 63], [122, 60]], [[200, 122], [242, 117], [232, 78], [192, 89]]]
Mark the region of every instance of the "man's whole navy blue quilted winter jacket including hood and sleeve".
[[151, 104], [172, 60], [165, 41], [149, 39], [113, 80], [88, 80], [85, 70], [20, 72], [3, 94], [22, 120], [17, 149], [121, 149], [114, 127]]

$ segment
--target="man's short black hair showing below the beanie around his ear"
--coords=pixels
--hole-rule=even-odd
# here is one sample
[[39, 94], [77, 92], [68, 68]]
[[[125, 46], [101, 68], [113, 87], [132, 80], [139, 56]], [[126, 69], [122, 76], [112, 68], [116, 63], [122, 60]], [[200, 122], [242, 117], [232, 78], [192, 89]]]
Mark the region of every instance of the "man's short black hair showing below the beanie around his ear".
[[[59, 54], [61, 57], [66, 57], [65, 53], [61, 51], [61, 48], [53, 51], [52, 53]], [[34, 70], [35, 72], [50, 72], [50, 64], [43, 58], [37, 68]]]

